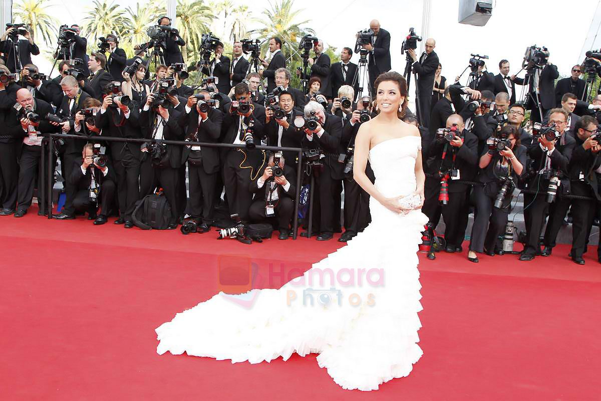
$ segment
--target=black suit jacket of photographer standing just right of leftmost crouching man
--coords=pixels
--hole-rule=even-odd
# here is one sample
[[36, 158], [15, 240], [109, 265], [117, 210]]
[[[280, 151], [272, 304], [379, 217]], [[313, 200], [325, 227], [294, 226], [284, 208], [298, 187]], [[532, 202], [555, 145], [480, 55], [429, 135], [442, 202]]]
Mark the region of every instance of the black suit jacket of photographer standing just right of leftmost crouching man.
[[[125, 118], [125, 115], [117, 110], [117, 108], [109, 107], [104, 113], [99, 111], [96, 114], [96, 127], [102, 129], [105, 136], [141, 138], [138, 107], [130, 109], [129, 118]], [[141, 157], [140, 144], [137, 143], [109, 142], [108, 147], [112, 159], [117, 162], [126, 157], [127, 150], [133, 158], [139, 160]]]

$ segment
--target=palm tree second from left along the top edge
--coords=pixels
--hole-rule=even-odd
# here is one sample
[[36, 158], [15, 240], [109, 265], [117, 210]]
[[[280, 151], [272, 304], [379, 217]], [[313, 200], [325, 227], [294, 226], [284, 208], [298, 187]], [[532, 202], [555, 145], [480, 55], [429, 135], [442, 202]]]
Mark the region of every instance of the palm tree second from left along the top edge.
[[94, 7], [84, 18], [86, 25], [86, 36], [93, 35], [96, 40], [111, 32], [123, 36], [126, 26], [125, 10], [118, 4], [108, 4], [107, 0], [94, 0]]

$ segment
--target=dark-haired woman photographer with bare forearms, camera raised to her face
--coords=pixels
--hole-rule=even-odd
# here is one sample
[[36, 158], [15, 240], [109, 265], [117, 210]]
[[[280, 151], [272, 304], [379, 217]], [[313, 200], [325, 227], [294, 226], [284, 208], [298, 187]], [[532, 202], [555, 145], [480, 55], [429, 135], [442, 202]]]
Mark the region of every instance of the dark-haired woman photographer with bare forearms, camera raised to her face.
[[476, 209], [468, 260], [475, 263], [476, 253], [495, 255], [495, 242], [505, 230], [511, 212], [511, 194], [526, 165], [526, 147], [520, 145], [515, 127], [506, 125], [493, 135], [480, 156], [477, 180], [482, 185], [474, 185]]

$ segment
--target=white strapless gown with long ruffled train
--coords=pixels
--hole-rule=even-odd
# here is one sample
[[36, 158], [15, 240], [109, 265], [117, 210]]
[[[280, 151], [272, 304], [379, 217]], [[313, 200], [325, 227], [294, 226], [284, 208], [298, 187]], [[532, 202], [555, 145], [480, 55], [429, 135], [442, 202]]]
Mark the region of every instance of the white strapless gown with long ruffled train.
[[[404, 136], [370, 150], [375, 185], [386, 197], [415, 191], [420, 147], [419, 137]], [[373, 198], [370, 210], [362, 233], [302, 277], [279, 290], [238, 296], [253, 300], [251, 307], [220, 292], [177, 313], [156, 329], [157, 353], [260, 363], [315, 352], [319, 366], [349, 390], [377, 390], [409, 375], [423, 354], [416, 344], [422, 310], [416, 253], [427, 217], [419, 210], [394, 213]]]

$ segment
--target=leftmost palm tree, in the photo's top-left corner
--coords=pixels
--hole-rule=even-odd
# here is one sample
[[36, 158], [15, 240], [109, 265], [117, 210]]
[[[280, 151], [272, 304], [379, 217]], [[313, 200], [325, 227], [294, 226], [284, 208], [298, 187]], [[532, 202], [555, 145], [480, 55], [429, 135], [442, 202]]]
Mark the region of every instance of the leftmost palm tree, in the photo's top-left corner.
[[34, 38], [39, 34], [44, 43], [52, 43], [58, 21], [46, 13], [50, 7], [53, 7], [53, 4], [49, 4], [48, 0], [20, 0], [13, 4], [13, 17], [14, 20], [20, 20], [31, 26], [31, 34]]

